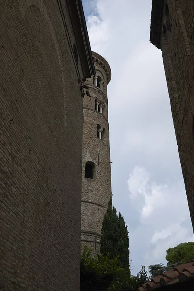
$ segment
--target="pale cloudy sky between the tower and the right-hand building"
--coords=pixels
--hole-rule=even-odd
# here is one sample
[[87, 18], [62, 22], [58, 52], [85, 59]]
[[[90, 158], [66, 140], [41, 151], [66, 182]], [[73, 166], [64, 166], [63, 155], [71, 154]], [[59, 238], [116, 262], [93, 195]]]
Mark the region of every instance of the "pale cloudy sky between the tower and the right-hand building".
[[108, 85], [113, 204], [129, 230], [132, 274], [194, 241], [162, 53], [149, 42], [151, 0], [83, 0]]

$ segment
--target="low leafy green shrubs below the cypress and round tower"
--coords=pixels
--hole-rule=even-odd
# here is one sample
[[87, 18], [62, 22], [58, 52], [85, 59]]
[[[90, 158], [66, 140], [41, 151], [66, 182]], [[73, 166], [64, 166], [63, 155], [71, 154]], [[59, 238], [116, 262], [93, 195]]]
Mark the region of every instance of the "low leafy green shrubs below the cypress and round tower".
[[136, 278], [119, 266], [118, 257], [93, 257], [92, 251], [84, 248], [81, 255], [80, 291], [135, 291], [149, 280], [145, 266]]

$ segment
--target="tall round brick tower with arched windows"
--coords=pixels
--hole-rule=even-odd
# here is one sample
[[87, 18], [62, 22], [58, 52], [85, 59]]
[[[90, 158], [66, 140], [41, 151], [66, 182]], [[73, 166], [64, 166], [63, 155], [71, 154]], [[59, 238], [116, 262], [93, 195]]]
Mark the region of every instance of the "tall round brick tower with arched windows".
[[[96, 56], [93, 53], [93, 56]], [[104, 59], [100, 56], [100, 61]], [[105, 60], [104, 60], [105, 62]], [[91, 97], [85, 96], [83, 102], [83, 167], [82, 167], [82, 207], [81, 207], [81, 250], [84, 245], [93, 249], [94, 254], [100, 252], [100, 235], [102, 221], [108, 202], [111, 198], [111, 167], [108, 124], [107, 74], [96, 58], [94, 59], [96, 73], [103, 78], [104, 92], [93, 85], [93, 78], [87, 84], [90, 86]], [[105, 63], [106, 64], [106, 63]], [[107, 63], [108, 64], [108, 63]], [[110, 70], [109, 65], [107, 69]], [[110, 77], [109, 80], [110, 81]], [[95, 99], [105, 105], [103, 114], [95, 110]], [[97, 137], [97, 124], [105, 128], [103, 140]], [[93, 179], [85, 178], [85, 163], [95, 164]]]

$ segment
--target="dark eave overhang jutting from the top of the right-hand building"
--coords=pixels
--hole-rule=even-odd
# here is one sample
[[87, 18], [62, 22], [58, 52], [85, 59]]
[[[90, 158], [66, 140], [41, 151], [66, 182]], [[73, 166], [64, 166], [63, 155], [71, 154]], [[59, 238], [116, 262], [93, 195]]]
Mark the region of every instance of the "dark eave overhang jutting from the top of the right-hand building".
[[162, 15], [164, 0], [152, 0], [150, 42], [161, 49]]

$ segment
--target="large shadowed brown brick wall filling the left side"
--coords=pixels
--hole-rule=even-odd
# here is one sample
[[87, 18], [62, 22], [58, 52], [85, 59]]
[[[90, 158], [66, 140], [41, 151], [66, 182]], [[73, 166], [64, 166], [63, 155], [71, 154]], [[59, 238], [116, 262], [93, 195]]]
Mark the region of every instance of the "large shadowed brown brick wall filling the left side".
[[3, 291], [79, 290], [82, 71], [62, 5], [66, 28], [57, 0], [1, 1]]

